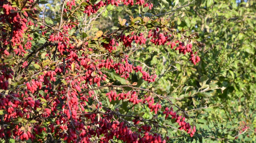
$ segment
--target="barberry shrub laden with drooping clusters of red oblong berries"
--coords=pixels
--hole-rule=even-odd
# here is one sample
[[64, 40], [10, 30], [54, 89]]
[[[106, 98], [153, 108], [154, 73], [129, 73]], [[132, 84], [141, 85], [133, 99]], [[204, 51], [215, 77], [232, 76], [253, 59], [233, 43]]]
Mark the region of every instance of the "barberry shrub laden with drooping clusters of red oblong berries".
[[173, 16], [193, 6], [187, 2], [0, 0], [1, 139], [165, 143], [199, 137], [191, 111], [207, 106], [197, 108], [194, 100], [184, 106], [183, 99], [225, 87], [207, 85], [206, 75], [195, 87], [168, 78], [203, 59], [199, 34]]

